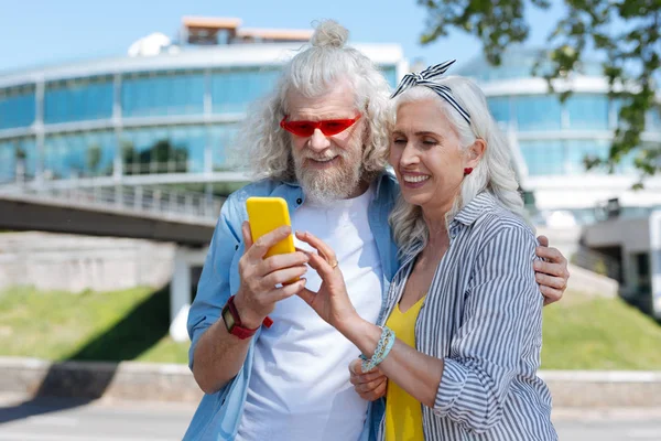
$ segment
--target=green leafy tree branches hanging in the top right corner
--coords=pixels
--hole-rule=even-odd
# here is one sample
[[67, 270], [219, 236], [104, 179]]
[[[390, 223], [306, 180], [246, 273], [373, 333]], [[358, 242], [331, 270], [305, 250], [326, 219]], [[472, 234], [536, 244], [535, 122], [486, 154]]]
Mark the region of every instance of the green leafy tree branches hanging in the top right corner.
[[[513, 43], [528, 39], [525, 8], [548, 9], [550, 0], [418, 0], [427, 11], [423, 44], [459, 30], [477, 36], [489, 63], [499, 65]], [[579, 71], [589, 51], [605, 55], [604, 74], [611, 97], [624, 99], [619, 126], [607, 158], [586, 158], [586, 166], [605, 166], [610, 172], [630, 152], [641, 180], [661, 171], [661, 146], [643, 142], [646, 115], [661, 112], [654, 93], [661, 67], [661, 0], [564, 0], [565, 17], [549, 35], [552, 78]], [[539, 67], [539, 65], [538, 65]], [[570, 93], [561, 94], [566, 99]], [[640, 184], [638, 184], [639, 186]]]

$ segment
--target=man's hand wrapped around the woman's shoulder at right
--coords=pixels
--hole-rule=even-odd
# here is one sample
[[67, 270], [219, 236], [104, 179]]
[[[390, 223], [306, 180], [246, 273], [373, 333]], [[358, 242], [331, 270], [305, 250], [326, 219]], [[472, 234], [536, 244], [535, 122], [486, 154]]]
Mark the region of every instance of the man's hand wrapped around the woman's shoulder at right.
[[544, 260], [535, 260], [533, 268], [535, 279], [540, 284], [540, 291], [544, 295], [544, 305], [562, 299], [562, 294], [567, 288], [570, 271], [567, 270], [567, 259], [556, 248], [549, 248], [549, 238], [546, 236], [538, 237], [540, 246], [537, 247], [537, 255]]

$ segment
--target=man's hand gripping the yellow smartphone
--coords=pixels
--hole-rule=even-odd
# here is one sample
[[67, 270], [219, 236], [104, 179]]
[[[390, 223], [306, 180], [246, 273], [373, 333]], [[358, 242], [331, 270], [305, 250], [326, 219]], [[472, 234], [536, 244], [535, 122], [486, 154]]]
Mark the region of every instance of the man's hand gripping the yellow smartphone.
[[264, 318], [275, 308], [275, 303], [296, 294], [305, 287], [305, 280], [275, 288], [277, 284], [303, 276], [307, 271], [308, 257], [301, 251], [275, 255], [264, 259], [273, 245], [291, 234], [289, 226], [282, 226], [263, 235], [254, 244], [250, 224], [241, 225], [246, 250], [239, 260], [241, 286], [236, 293], [235, 304], [246, 327], [259, 327]]

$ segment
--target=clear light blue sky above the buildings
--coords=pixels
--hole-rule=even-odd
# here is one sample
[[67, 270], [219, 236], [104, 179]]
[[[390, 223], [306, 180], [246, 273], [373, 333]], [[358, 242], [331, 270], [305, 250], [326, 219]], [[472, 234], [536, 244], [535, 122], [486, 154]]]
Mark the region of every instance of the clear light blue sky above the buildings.
[[[561, 15], [531, 10], [528, 45], [543, 45]], [[529, 3], [530, 4], [530, 3]], [[399, 43], [410, 62], [435, 64], [479, 54], [477, 39], [455, 32], [422, 46], [426, 11], [416, 0], [0, 0], [0, 73], [69, 61], [121, 56], [152, 32], [175, 36], [183, 15], [232, 17], [242, 28], [310, 29], [314, 20], [335, 19], [350, 42]]]

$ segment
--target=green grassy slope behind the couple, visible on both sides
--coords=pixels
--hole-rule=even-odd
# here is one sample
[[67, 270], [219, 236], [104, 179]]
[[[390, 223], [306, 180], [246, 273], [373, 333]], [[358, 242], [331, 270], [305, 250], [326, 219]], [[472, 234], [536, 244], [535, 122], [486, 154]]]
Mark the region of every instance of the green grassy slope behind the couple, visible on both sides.
[[[167, 290], [0, 293], [0, 355], [186, 363], [167, 336]], [[661, 325], [618, 299], [567, 293], [544, 309], [544, 369], [661, 370]]]

